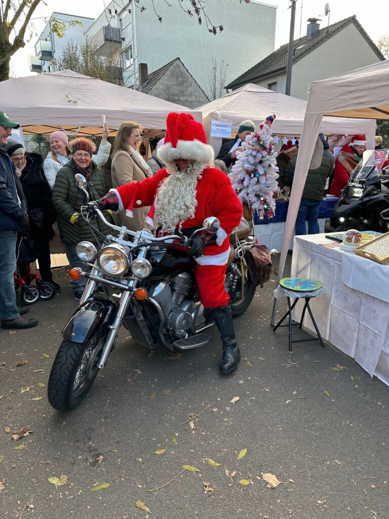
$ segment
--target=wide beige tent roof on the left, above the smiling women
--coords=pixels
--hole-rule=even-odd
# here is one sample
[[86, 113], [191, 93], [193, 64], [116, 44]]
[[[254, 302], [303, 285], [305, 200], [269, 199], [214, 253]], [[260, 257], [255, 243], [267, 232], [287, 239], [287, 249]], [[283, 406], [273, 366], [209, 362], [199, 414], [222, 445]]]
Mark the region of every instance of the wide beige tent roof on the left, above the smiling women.
[[128, 120], [144, 128], [165, 128], [170, 112], [190, 113], [201, 121], [201, 112], [71, 70], [3, 81], [0, 107], [20, 122], [25, 134], [59, 128], [101, 134], [102, 114], [113, 132]]

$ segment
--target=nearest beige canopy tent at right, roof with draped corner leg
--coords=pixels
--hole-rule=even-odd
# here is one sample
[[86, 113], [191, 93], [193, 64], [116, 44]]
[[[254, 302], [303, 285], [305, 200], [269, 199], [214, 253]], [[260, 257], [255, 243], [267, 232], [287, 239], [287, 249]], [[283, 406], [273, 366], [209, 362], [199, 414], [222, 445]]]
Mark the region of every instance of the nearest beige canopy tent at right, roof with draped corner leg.
[[[293, 235], [301, 195], [315, 148], [316, 135], [323, 116], [389, 119], [388, 85], [389, 60], [310, 84], [285, 224], [278, 281], [283, 275], [289, 242]], [[373, 149], [374, 142], [368, 140], [367, 147]], [[276, 306], [275, 299], [272, 323], [275, 322]]]

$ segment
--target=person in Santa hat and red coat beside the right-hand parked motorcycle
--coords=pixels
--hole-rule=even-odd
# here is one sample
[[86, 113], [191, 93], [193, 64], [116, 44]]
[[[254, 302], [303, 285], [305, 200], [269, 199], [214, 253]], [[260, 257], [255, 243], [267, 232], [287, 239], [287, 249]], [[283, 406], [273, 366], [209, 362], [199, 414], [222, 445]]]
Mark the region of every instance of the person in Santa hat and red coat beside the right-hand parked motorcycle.
[[354, 155], [362, 158], [363, 152], [366, 149], [365, 135], [354, 135], [350, 144], [345, 144], [336, 161], [334, 180], [329, 188], [329, 194], [341, 196], [343, 187], [349, 182], [351, 172], [357, 167], [358, 162]]

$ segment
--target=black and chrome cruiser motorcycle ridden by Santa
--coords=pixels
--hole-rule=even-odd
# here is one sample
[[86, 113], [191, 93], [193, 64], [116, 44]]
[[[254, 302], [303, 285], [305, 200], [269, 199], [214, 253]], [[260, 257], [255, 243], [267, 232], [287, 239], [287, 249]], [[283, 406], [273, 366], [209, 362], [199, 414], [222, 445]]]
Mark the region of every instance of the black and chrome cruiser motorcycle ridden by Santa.
[[[85, 178], [76, 174], [75, 180], [87, 196]], [[118, 235], [101, 235], [90, 223], [96, 215]], [[80, 217], [88, 222], [99, 247], [80, 242], [76, 251], [85, 269], [70, 270], [73, 279], [84, 275], [88, 281], [79, 307], [62, 331], [63, 340], [51, 368], [48, 398], [59, 411], [68, 411], [85, 398], [115, 348], [121, 325], [134, 342], [151, 350], [202, 346], [211, 340], [205, 331], [213, 325], [205, 322], [193, 275], [195, 263], [187, 249], [200, 231], [206, 230], [210, 236], [216, 232], [220, 225], [217, 218], [206, 218], [203, 228], [190, 237], [157, 238], [146, 229], [135, 233], [110, 224], [93, 203], [81, 208]], [[254, 297], [256, 286], [249, 279], [245, 262], [246, 251], [254, 245], [255, 238], [248, 230], [240, 239], [235, 233], [225, 280], [233, 317], [240, 316]], [[105, 295], [99, 293], [98, 286], [103, 286]]]

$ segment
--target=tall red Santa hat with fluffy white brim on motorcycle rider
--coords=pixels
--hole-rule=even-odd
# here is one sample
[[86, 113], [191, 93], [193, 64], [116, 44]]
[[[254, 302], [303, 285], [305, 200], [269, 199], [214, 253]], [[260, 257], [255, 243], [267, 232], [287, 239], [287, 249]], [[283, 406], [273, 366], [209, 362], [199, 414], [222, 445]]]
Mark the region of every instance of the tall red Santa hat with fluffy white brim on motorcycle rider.
[[190, 114], [174, 112], [166, 117], [165, 141], [157, 149], [157, 155], [165, 164], [176, 159], [208, 164], [214, 159], [213, 148], [206, 143], [203, 125]]

